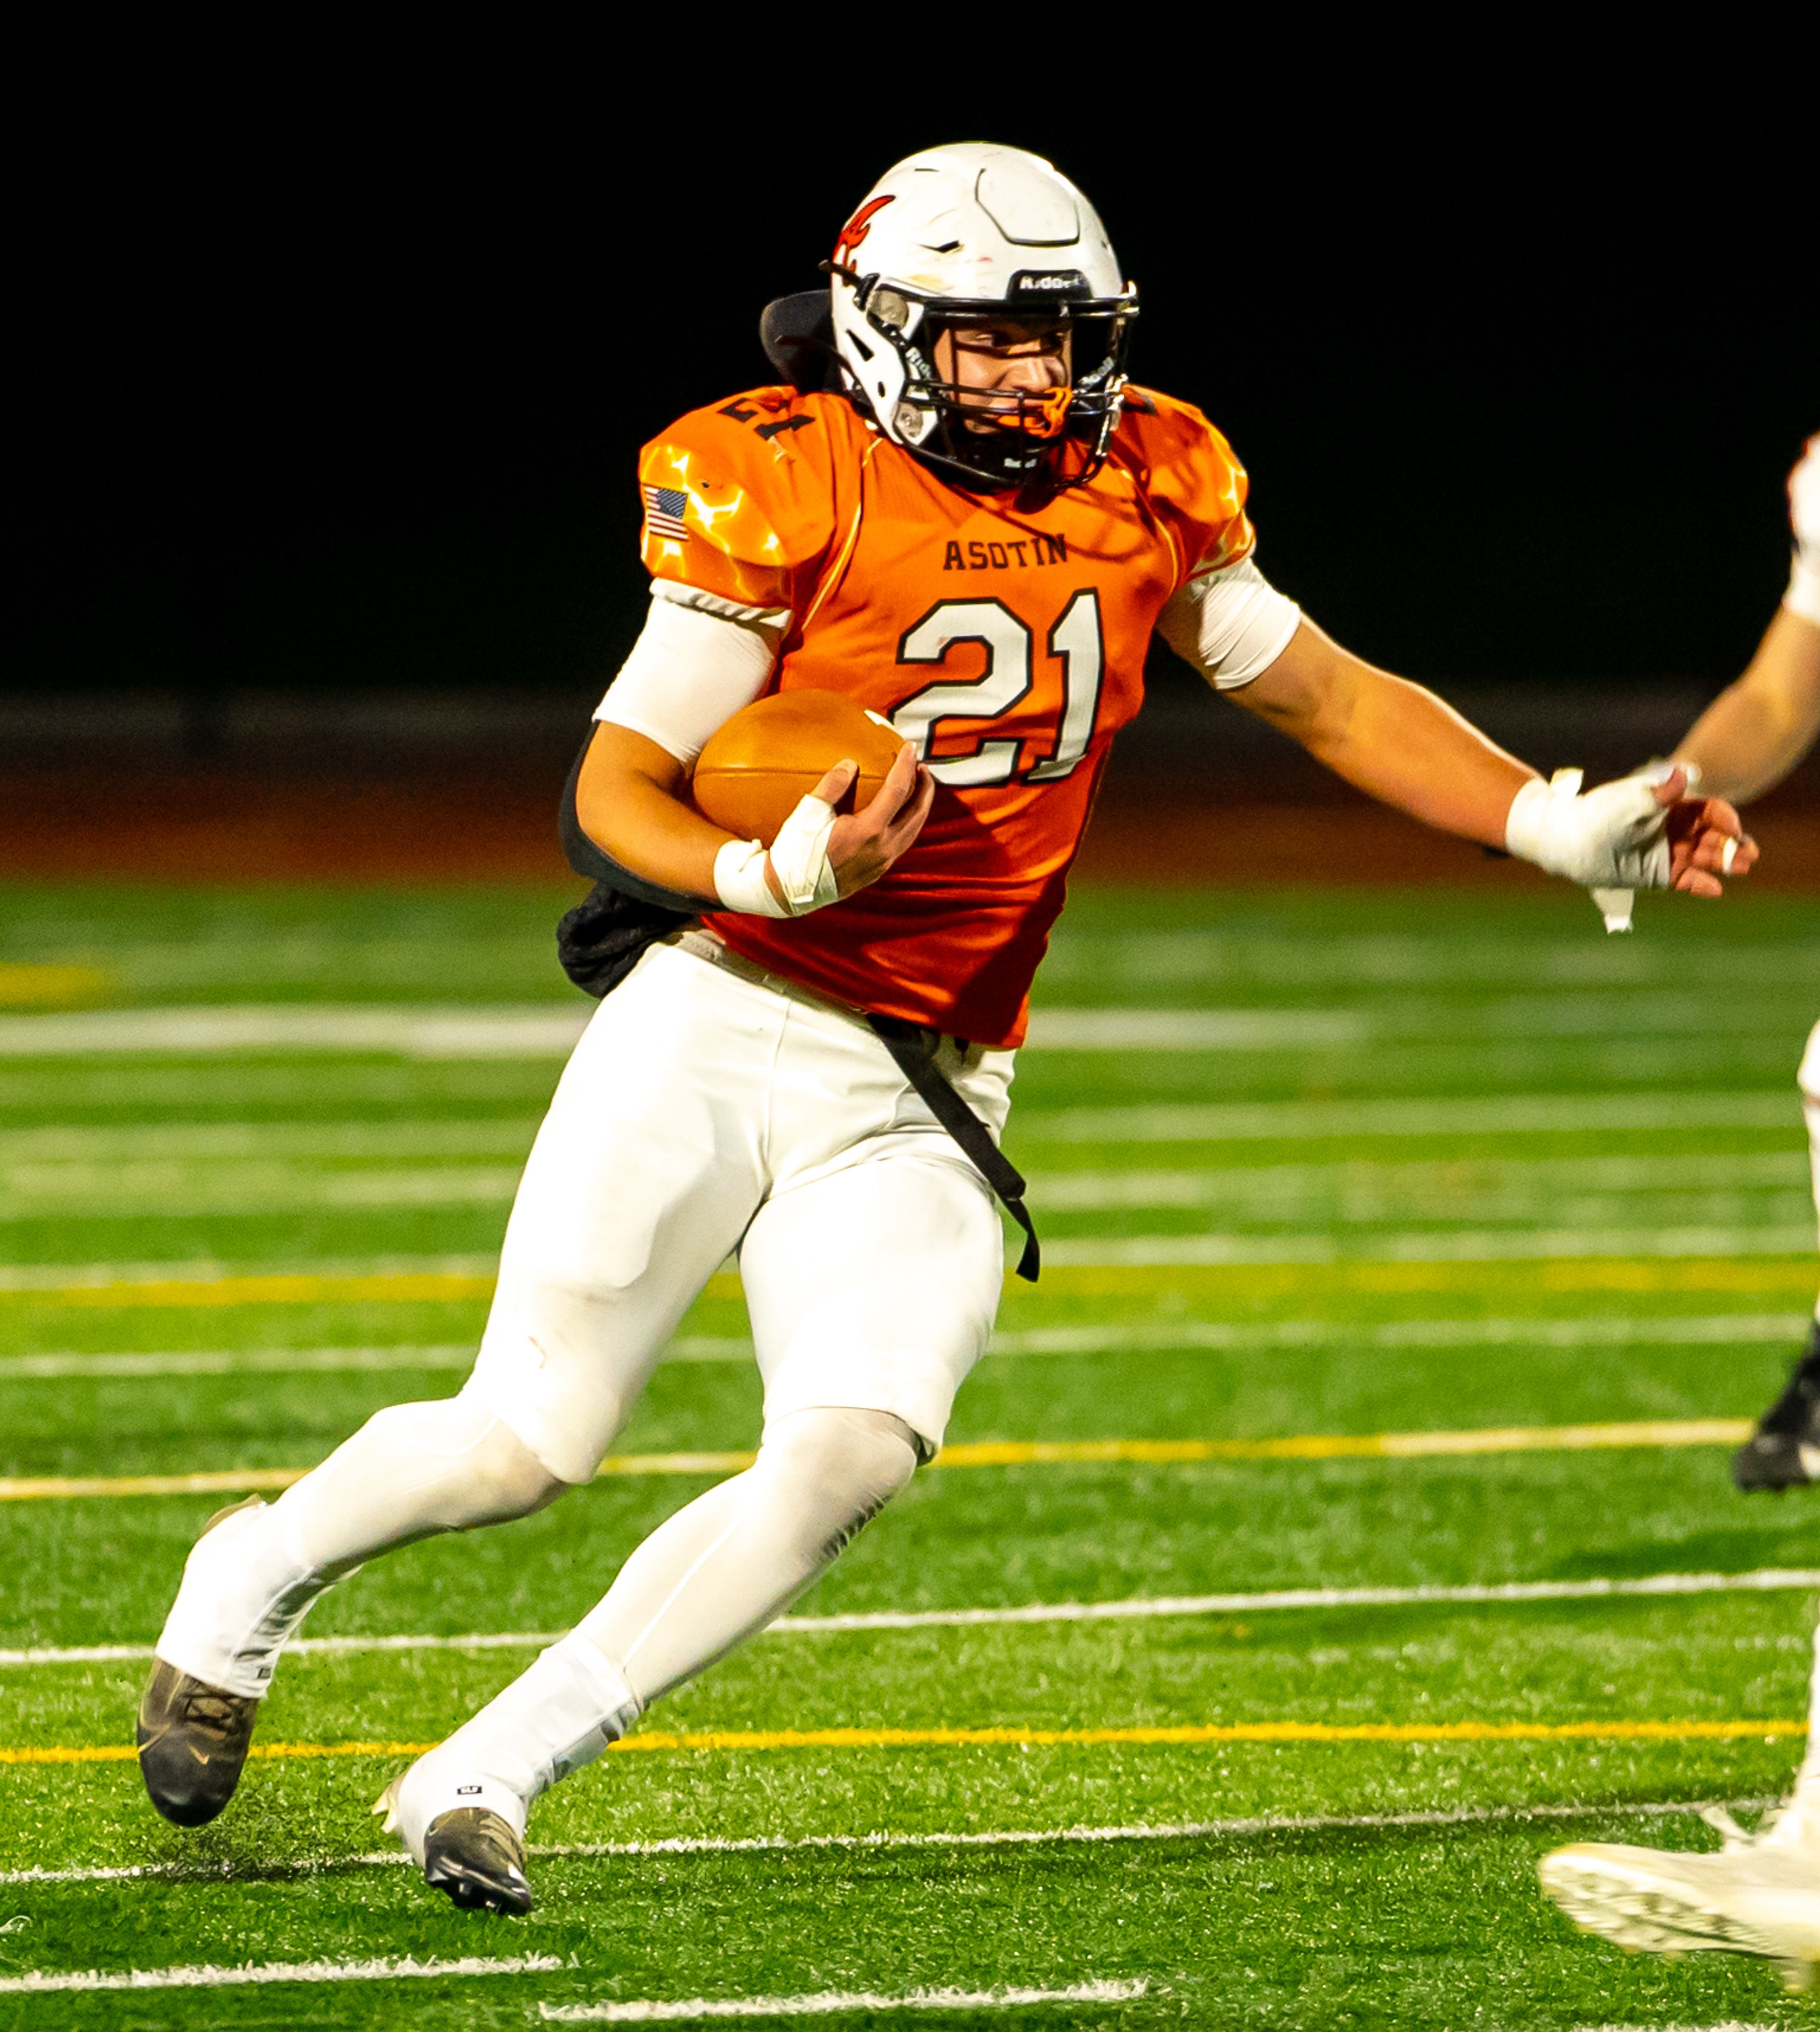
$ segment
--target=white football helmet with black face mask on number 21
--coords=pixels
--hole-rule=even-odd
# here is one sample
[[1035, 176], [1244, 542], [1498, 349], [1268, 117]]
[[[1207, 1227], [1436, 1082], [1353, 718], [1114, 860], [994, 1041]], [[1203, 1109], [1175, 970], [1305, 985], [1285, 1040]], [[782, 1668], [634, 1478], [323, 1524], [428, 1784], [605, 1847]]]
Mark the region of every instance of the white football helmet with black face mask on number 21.
[[[867, 191], [829, 272], [841, 384], [894, 443], [989, 488], [1099, 471], [1138, 291], [1093, 205], [1042, 156], [993, 142], [908, 156]], [[965, 390], [936, 376], [936, 333], [1008, 311], [1068, 333], [1068, 384], [989, 404], [973, 390], [963, 412]]]

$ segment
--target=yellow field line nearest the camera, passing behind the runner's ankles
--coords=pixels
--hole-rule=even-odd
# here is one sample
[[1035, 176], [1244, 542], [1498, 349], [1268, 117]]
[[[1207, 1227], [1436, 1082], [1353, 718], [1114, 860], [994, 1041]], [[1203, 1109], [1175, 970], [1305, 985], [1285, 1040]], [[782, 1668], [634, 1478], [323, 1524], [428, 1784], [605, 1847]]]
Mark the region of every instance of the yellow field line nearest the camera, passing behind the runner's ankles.
[[[1131, 1729], [644, 1729], [609, 1750], [1056, 1750], [1103, 1743], [1692, 1743], [1800, 1737], [1806, 1721], [1205, 1721]], [[254, 1743], [252, 1758], [420, 1758], [435, 1743]], [[0, 1750], [0, 1764], [130, 1764], [126, 1743]]]

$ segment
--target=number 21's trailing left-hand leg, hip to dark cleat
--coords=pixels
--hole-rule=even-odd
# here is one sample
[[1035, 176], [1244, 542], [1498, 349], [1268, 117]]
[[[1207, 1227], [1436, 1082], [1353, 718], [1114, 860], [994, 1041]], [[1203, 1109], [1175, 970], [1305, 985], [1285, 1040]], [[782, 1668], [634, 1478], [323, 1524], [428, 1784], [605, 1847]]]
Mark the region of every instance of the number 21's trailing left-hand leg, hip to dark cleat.
[[729, 1024], [737, 986], [658, 949], [601, 1006], [526, 1164], [461, 1396], [378, 1412], [276, 1504], [205, 1528], [140, 1707], [140, 1768], [167, 1819], [195, 1827], [228, 1804], [278, 1652], [327, 1587], [593, 1475], [762, 1193], [782, 1010], [741, 1006]]

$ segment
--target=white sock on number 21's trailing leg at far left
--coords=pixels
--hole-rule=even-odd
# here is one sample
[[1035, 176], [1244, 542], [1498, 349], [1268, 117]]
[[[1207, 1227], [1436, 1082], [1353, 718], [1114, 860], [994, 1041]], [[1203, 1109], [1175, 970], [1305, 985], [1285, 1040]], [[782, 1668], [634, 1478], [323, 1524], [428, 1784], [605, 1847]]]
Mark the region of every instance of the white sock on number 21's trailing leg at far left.
[[374, 1552], [528, 1516], [565, 1487], [467, 1398], [392, 1404], [276, 1504], [197, 1538], [158, 1656], [258, 1699], [311, 1603]]

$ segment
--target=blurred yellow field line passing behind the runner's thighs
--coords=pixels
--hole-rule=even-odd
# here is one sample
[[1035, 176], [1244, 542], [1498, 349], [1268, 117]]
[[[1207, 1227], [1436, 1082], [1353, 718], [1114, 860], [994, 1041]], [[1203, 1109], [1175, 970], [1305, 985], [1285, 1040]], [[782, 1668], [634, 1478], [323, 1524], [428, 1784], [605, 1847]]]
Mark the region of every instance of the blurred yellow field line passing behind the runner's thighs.
[[[1810, 1290], [1812, 1262], [1804, 1258], [1568, 1258], [1536, 1264], [1107, 1264], [1052, 1266], [1042, 1274], [1042, 1296], [1133, 1296], [1158, 1290], [1205, 1292], [1225, 1298], [1282, 1298], [1320, 1292], [1481, 1292], [1521, 1280], [1525, 1290]], [[372, 1276], [270, 1276], [167, 1278], [120, 1284], [53, 1284], [43, 1290], [0, 1290], [0, 1305], [45, 1305], [126, 1311], [134, 1307], [230, 1305], [445, 1305], [490, 1298], [494, 1278], [473, 1272], [410, 1270]], [[717, 1272], [707, 1280], [709, 1298], [737, 1298], [739, 1278]], [[1030, 1300], [1030, 1294], [1020, 1292]]]

